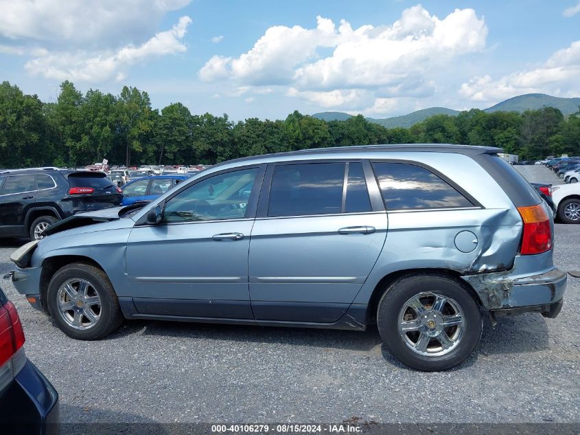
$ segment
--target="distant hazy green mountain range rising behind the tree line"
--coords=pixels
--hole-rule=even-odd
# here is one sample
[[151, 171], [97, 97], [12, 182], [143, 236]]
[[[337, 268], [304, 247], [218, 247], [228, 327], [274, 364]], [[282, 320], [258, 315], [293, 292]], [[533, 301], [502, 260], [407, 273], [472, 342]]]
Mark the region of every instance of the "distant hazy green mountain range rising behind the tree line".
[[[485, 112], [496, 112], [496, 111], [515, 111], [523, 112], [526, 110], [537, 110], [542, 109], [542, 107], [555, 107], [559, 109], [564, 116], [568, 116], [572, 113], [577, 113], [580, 107], [580, 98], [560, 98], [546, 95], [544, 93], [526, 93], [525, 95], [520, 95], [517, 97], [509, 98], [504, 100], [495, 106], [483, 109]], [[388, 129], [393, 127], [410, 127], [417, 122], [424, 121], [432, 115], [440, 115], [441, 113], [445, 115], [454, 116], [459, 113], [459, 111], [448, 109], [446, 107], [430, 107], [429, 109], [418, 110], [408, 115], [395, 116], [393, 118], [366, 118], [369, 122], [375, 122], [376, 124], [381, 124]], [[314, 118], [325, 121], [345, 121], [351, 118], [351, 115], [343, 112], [321, 112], [314, 113]]]

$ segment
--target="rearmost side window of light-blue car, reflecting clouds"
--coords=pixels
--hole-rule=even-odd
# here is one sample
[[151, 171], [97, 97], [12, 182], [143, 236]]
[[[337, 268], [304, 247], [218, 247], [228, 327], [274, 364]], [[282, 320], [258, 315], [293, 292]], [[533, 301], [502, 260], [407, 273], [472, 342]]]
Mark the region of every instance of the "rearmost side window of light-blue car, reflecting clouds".
[[473, 207], [453, 186], [421, 166], [375, 162], [373, 169], [387, 210]]

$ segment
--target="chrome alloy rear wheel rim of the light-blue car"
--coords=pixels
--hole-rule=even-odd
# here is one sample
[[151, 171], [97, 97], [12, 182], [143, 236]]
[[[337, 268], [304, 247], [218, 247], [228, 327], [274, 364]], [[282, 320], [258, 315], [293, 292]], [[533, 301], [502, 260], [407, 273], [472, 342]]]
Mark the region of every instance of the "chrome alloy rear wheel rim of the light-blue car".
[[397, 318], [399, 336], [419, 355], [450, 353], [465, 332], [465, 315], [452, 298], [426, 291], [405, 302]]

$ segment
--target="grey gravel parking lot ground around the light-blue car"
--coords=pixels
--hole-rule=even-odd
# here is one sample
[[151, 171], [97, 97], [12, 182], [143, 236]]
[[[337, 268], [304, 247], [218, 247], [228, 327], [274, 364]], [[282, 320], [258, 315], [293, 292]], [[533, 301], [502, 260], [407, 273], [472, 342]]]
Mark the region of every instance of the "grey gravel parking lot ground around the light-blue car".
[[[544, 166], [530, 181], [561, 183]], [[555, 264], [579, 270], [580, 225], [557, 224]], [[0, 241], [0, 272], [22, 241]], [[28, 357], [60, 393], [64, 422], [580, 422], [580, 280], [557, 319], [485, 320], [476, 353], [422, 373], [366, 332], [126, 322], [100, 342], [69, 339], [12, 283]]]

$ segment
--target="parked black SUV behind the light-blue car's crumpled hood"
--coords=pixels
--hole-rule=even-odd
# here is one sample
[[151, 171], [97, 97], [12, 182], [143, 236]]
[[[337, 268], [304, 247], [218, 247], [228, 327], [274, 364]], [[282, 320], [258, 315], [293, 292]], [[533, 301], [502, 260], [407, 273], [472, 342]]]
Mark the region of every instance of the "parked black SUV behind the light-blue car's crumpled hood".
[[78, 212], [121, 205], [123, 194], [103, 172], [33, 168], [0, 170], [0, 237], [40, 238]]

